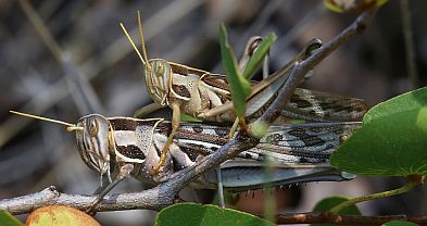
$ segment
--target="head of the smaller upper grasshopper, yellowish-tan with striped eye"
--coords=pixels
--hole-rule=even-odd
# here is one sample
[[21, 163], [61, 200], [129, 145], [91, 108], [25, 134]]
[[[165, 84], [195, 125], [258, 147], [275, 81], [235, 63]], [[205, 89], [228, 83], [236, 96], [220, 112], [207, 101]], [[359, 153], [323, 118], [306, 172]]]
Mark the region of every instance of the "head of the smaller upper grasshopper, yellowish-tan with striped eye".
[[172, 68], [167, 61], [152, 59], [145, 65], [147, 90], [151, 98], [162, 106], [168, 104], [167, 97], [172, 86]]

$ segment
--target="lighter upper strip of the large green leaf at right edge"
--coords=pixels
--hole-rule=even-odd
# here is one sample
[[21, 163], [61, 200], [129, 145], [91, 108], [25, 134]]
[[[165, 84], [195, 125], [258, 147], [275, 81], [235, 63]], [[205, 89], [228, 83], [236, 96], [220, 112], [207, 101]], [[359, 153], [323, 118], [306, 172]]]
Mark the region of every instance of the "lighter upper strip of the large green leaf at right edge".
[[380, 117], [404, 111], [417, 110], [423, 106], [427, 106], [427, 87], [403, 93], [375, 105], [365, 114], [363, 123], [371, 123]]

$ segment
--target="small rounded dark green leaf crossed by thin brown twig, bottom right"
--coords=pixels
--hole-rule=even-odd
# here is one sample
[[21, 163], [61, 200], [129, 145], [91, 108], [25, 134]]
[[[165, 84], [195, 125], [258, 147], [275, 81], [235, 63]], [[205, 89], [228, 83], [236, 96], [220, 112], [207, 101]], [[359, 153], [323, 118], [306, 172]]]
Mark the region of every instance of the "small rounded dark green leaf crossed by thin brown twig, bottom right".
[[[328, 197], [319, 202], [314, 206], [313, 211], [328, 211], [332, 209], [334, 206], [341, 204], [342, 202], [346, 202], [349, 200], [347, 197]], [[346, 214], [346, 215], [362, 215], [361, 211], [357, 209], [355, 205], [350, 205], [349, 208], [346, 208], [338, 212], [339, 214]], [[334, 226], [335, 224], [312, 224], [313, 226]]]

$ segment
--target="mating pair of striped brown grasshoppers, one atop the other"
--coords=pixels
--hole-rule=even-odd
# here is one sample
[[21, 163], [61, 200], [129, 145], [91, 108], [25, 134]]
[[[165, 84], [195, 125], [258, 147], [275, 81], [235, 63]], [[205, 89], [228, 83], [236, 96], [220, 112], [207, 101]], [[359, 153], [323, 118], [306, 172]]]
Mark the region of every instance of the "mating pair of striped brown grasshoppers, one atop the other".
[[[140, 111], [139, 115], [168, 105], [173, 110], [172, 122], [162, 118], [108, 118], [95, 114], [81, 117], [76, 125], [62, 124], [67, 125], [68, 130], [76, 131], [81, 159], [101, 175], [101, 179], [106, 174], [111, 181], [111, 174], [120, 168], [126, 170], [146, 185], [154, 186], [212, 153], [228, 139], [229, 126], [179, 124], [180, 113], [203, 121], [229, 123], [235, 121], [236, 115], [225, 76], [162, 59], [148, 60], [140, 20], [138, 23], [143, 56], [130, 37], [129, 40], [145, 64], [146, 85], [155, 101]], [[310, 56], [318, 47], [319, 42], [307, 45], [281, 70], [263, 81], [253, 81], [252, 93], [247, 100], [246, 116], [249, 121], [256, 118], [272, 103], [293, 64]], [[289, 105], [281, 112], [280, 120], [328, 123], [273, 126], [256, 148], [240, 153], [237, 159], [221, 166], [223, 186], [231, 190], [248, 190], [261, 188], [264, 183], [276, 186], [351, 179], [352, 176], [331, 167], [328, 158], [342, 139], [357, 127], [357, 123], [348, 121], [360, 121], [365, 111], [363, 100], [297, 89]], [[277, 163], [277, 171], [271, 181], [265, 181], [262, 173], [262, 160], [266, 156]], [[162, 171], [159, 171], [160, 166]], [[215, 188], [217, 180], [214, 175], [214, 172], [210, 172], [192, 185]], [[103, 189], [101, 193], [108, 190]]]

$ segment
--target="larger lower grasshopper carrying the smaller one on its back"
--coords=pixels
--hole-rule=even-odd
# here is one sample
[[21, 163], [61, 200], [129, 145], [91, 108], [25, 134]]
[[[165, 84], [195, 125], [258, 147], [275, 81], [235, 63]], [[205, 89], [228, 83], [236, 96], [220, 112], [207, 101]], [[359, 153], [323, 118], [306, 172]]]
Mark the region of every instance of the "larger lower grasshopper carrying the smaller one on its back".
[[[68, 131], [75, 130], [81, 160], [99, 173], [100, 183], [104, 175], [111, 183], [113, 171], [126, 168], [128, 174], [146, 186], [156, 186], [172, 178], [175, 173], [192, 166], [204, 155], [215, 152], [228, 141], [230, 129], [228, 125], [181, 123], [166, 152], [164, 170], [153, 175], [150, 171], [162, 155], [161, 150], [172, 130], [171, 122], [163, 118], [139, 120], [90, 114], [79, 118], [74, 125], [11, 112], [63, 124]], [[352, 179], [353, 175], [330, 166], [328, 159], [359, 125], [359, 122], [274, 125], [255, 148], [243, 151], [221, 165], [223, 186], [228, 190], [241, 191], [259, 189], [265, 184], [284, 186]], [[268, 177], [271, 180], [266, 181], [263, 161], [267, 158], [273, 160], [275, 172]], [[190, 186], [214, 189], [216, 183], [215, 172], [211, 171]], [[105, 194], [112, 187], [104, 189], [102, 193]]]

